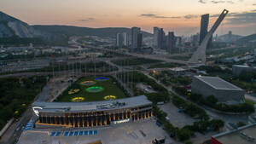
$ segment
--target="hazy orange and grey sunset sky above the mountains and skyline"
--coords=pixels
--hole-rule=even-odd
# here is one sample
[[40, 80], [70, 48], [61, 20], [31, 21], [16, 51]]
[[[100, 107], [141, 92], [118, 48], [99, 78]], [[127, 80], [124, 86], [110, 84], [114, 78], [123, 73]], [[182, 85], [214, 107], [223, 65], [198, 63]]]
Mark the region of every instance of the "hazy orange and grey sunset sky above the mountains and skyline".
[[[147, 32], [159, 26], [176, 35], [192, 34], [189, 31], [200, 26], [201, 14], [212, 15], [212, 20], [223, 9], [230, 11], [223, 34], [256, 32], [255, 0], [0, 0], [0, 11], [29, 25], [139, 26]], [[221, 29], [216, 33], [220, 35]]]

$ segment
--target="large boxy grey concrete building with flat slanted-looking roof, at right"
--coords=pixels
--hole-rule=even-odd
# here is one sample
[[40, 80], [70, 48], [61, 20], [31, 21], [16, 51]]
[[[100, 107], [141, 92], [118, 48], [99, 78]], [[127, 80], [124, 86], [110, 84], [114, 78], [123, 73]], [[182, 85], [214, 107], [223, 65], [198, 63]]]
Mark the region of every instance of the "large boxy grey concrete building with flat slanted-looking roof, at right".
[[194, 76], [192, 78], [192, 93], [207, 96], [213, 95], [218, 102], [235, 104], [243, 102], [245, 90], [236, 87], [217, 77]]

